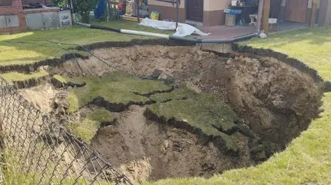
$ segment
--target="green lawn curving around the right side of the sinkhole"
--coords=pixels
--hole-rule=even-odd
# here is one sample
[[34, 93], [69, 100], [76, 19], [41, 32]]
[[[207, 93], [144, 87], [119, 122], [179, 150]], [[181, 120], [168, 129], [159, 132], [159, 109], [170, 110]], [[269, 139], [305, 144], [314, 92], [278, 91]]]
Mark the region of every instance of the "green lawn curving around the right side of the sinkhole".
[[[263, 47], [299, 58], [331, 80], [331, 27], [309, 28], [268, 39], [252, 39], [245, 45]], [[331, 184], [331, 93], [325, 93], [321, 118], [288, 148], [267, 162], [249, 168], [225, 171], [210, 179], [202, 177], [163, 179], [143, 184]]]

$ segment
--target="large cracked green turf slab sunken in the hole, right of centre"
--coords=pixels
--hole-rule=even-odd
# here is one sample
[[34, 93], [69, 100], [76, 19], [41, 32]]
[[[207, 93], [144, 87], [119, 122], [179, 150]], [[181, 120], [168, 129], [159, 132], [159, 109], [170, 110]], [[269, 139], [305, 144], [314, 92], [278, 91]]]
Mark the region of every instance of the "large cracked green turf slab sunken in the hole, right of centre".
[[[184, 92], [191, 97], [187, 97], [186, 100], [176, 100], [185, 97]], [[162, 102], [168, 100], [171, 95], [174, 95], [172, 96], [174, 100]], [[167, 121], [175, 119], [186, 122], [190, 126], [200, 129], [205, 135], [221, 137], [228, 149], [237, 151], [237, 144], [232, 136], [226, 134], [236, 127], [234, 121], [237, 120], [237, 116], [228, 105], [218, 103], [221, 101], [217, 94], [196, 94], [188, 89], [183, 89], [168, 95], [157, 94], [154, 95], [154, 98], [160, 102], [150, 105], [148, 109], [158, 117], [163, 117]]]

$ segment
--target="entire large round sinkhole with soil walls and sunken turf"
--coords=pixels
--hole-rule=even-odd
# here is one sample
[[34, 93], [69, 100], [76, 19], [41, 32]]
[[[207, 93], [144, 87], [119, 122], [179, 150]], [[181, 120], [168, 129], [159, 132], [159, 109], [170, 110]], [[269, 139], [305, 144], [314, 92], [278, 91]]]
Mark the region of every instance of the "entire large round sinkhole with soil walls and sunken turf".
[[87, 76], [67, 61], [12, 83], [43, 84], [21, 93], [136, 182], [256, 164], [319, 114], [319, 85], [275, 58], [155, 45], [94, 54], [161, 80], [122, 74], [91, 57], [79, 60]]

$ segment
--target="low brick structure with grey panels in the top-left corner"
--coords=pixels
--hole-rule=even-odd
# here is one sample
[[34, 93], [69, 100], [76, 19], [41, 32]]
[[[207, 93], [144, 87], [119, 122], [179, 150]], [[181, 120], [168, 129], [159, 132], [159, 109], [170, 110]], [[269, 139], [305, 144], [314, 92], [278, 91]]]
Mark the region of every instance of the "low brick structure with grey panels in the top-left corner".
[[1, 0], [0, 33], [70, 26], [70, 11], [60, 11], [52, 0]]

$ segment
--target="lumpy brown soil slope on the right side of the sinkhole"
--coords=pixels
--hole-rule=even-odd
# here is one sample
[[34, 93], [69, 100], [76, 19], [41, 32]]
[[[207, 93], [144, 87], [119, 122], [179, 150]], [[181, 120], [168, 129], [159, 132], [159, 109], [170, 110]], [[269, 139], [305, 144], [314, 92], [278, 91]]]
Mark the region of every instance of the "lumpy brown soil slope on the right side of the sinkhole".
[[205, 74], [203, 86], [225, 87], [245, 124], [282, 148], [308, 128], [321, 106], [321, 90], [308, 74], [271, 57], [229, 59]]

